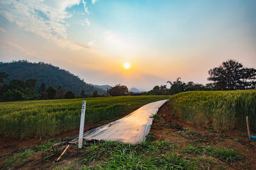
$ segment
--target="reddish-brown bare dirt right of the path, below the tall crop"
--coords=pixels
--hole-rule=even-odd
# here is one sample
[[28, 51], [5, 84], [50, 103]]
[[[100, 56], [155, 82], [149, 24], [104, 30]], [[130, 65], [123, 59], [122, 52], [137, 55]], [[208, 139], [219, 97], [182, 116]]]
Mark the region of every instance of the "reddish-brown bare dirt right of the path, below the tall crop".
[[[155, 118], [150, 132], [154, 134], [154, 140], [168, 140], [179, 144], [182, 150], [186, 150], [186, 146], [191, 145], [211, 145], [216, 148], [232, 148], [241, 153], [245, 157], [242, 160], [227, 164], [225, 161], [217, 160], [224, 164], [227, 169], [256, 169], [256, 141], [248, 139], [247, 131], [239, 129], [228, 131], [226, 133], [218, 133], [211, 131], [205, 127], [196, 127], [179, 118], [170, 116], [168, 104], [159, 110], [158, 115], [161, 118]], [[182, 131], [195, 131], [197, 134], [182, 134]]]

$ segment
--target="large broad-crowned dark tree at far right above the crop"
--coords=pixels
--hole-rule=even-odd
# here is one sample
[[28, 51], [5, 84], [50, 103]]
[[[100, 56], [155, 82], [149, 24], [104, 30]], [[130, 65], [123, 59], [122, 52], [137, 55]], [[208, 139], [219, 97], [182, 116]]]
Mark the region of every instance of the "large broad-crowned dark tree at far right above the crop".
[[236, 60], [222, 62], [221, 66], [209, 70], [207, 80], [214, 81], [217, 90], [244, 89], [255, 87], [256, 69], [243, 67]]

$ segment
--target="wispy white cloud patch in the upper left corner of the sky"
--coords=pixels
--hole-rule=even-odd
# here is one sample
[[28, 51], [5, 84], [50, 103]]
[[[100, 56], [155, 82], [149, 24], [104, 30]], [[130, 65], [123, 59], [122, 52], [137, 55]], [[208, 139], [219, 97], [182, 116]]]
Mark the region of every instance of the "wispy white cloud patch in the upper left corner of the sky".
[[0, 0], [0, 15], [25, 31], [33, 32], [57, 45], [72, 50], [88, 48], [68, 38], [68, 23], [71, 15], [66, 9], [80, 4], [80, 0], [26, 1]]

